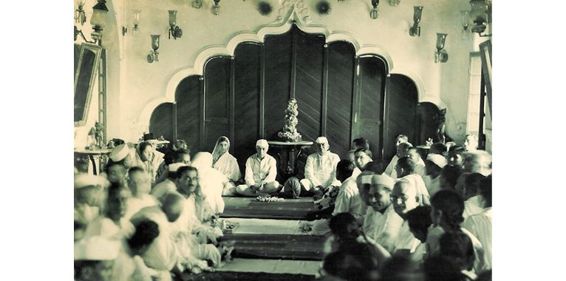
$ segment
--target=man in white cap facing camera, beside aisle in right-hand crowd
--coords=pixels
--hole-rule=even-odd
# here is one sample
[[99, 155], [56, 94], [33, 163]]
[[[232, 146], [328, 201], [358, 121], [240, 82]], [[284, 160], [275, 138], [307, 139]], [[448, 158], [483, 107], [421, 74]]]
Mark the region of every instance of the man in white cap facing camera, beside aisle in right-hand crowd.
[[395, 181], [388, 175], [363, 175], [362, 183], [370, 184], [365, 203], [364, 232], [368, 238], [382, 245], [389, 252], [394, 250], [403, 219], [395, 213], [391, 204], [391, 191]]

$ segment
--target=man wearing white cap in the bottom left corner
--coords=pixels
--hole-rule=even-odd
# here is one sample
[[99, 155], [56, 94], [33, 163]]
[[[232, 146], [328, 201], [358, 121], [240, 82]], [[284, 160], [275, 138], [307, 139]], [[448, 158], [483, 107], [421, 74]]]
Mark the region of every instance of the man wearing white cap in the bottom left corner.
[[120, 242], [101, 236], [89, 237], [75, 243], [75, 280], [110, 281]]

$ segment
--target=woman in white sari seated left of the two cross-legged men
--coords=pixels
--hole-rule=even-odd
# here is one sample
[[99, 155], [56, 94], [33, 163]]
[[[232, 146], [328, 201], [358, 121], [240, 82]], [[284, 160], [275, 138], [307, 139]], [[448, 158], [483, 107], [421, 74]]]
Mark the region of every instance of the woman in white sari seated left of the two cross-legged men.
[[212, 167], [224, 174], [232, 183], [236, 183], [242, 178], [242, 174], [238, 160], [228, 152], [229, 149], [230, 140], [225, 136], [219, 137], [212, 150]]

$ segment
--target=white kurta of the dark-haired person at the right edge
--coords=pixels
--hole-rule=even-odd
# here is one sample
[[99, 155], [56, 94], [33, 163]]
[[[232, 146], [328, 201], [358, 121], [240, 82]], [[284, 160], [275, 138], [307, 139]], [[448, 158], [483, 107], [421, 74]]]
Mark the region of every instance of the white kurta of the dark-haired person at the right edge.
[[483, 212], [468, 217], [462, 227], [470, 231], [483, 246], [485, 253], [485, 267], [491, 268], [491, 230], [492, 209], [486, 208]]

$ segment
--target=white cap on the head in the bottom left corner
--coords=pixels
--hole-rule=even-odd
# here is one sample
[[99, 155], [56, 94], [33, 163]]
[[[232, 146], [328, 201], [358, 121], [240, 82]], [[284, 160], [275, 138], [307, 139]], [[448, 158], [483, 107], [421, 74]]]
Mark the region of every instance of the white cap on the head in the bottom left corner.
[[103, 236], [91, 236], [75, 242], [75, 260], [104, 261], [118, 257], [120, 242]]

